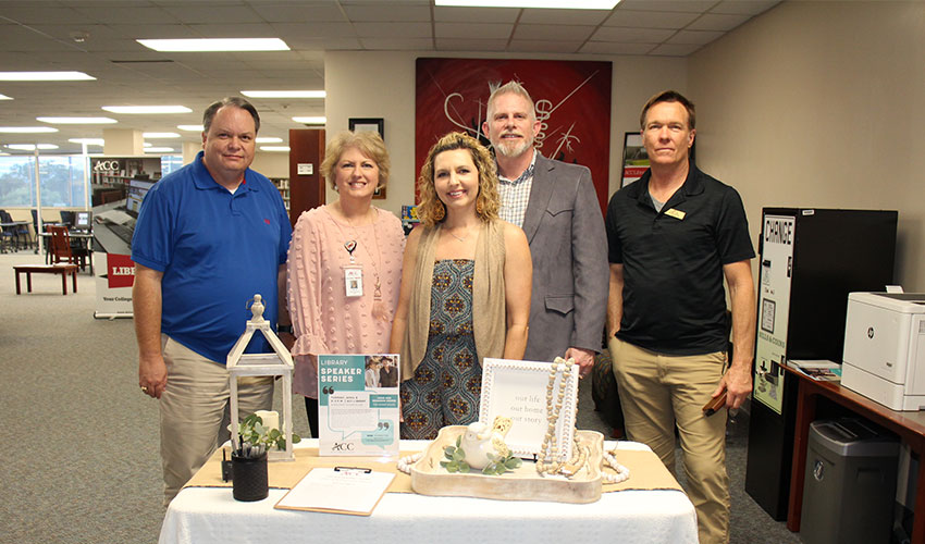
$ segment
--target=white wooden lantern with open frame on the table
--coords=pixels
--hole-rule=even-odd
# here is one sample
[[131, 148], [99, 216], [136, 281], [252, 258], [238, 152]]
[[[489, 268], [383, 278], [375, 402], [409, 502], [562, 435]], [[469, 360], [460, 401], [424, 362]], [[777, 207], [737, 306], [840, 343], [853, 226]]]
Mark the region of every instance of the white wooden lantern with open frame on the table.
[[[237, 379], [240, 376], [257, 376], [257, 375], [281, 375], [283, 376], [283, 420], [281, 421], [283, 436], [286, 438], [286, 449], [278, 450], [271, 448], [268, 452], [268, 459], [271, 461], [293, 461], [295, 454], [293, 453], [293, 356], [289, 350], [283, 345], [279, 336], [270, 329], [270, 322], [263, 319], [263, 298], [258, 294], [254, 295], [254, 302], [250, 305], [251, 318], [247, 322], [244, 334], [237, 338], [232, 350], [229, 351], [226, 368], [229, 371], [229, 387], [231, 390], [231, 437], [232, 448], [236, 450], [240, 447], [237, 440], [238, 416], [237, 416]], [[245, 354], [244, 349], [250, 342], [255, 332], [260, 332], [270, 347], [273, 348], [272, 354]]]

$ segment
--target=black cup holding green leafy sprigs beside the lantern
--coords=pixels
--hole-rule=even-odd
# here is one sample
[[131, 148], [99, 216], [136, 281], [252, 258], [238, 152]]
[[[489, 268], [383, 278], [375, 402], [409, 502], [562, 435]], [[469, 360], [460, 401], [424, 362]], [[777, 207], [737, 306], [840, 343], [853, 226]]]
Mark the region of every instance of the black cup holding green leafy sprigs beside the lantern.
[[[244, 418], [237, 430], [237, 449], [232, 452], [232, 479], [234, 498], [237, 500], [262, 500], [270, 494], [267, 477], [267, 450], [270, 447], [286, 448], [286, 437], [279, 429], [263, 426], [263, 419], [256, 413]], [[293, 433], [293, 444], [301, 441]]]

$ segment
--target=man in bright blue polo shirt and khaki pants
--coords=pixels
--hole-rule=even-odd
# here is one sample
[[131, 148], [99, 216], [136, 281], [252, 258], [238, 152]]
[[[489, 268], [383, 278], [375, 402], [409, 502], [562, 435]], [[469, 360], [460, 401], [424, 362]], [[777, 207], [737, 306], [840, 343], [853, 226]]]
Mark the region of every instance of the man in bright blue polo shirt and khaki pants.
[[[202, 119], [202, 151], [141, 205], [132, 260], [138, 384], [159, 398], [164, 505], [229, 437], [225, 358], [260, 294], [264, 317], [289, 324], [285, 263], [292, 226], [282, 197], [249, 170], [260, 116], [232, 97]], [[285, 341], [285, 338], [284, 338]], [[267, 351], [255, 335], [248, 351]], [[239, 412], [270, 409], [273, 379], [242, 379]]]

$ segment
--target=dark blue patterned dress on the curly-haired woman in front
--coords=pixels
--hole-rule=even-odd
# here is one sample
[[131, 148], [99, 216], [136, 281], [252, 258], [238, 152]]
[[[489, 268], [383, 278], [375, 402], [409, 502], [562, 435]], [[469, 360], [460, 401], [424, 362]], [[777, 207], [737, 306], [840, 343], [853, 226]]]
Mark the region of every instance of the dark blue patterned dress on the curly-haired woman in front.
[[476, 261], [440, 260], [433, 267], [430, 330], [424, 358], [402, 383], [402, 438], [433, 440], [444, 425], [479, 419], [482, 367], [472, 333]]

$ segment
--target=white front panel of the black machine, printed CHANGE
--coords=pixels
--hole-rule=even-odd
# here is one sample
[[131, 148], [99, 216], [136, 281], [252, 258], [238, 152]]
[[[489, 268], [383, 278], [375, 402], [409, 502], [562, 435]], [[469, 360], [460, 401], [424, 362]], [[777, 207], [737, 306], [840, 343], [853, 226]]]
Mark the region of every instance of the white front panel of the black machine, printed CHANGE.
[[754, 396], [777, 413], [784, 406], [784, 369], [778, 366], [787, 362], [795, 224], [793, 217], [765, 215], [762, 230]]

